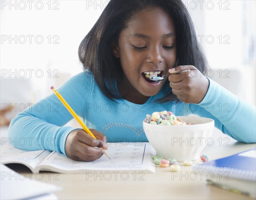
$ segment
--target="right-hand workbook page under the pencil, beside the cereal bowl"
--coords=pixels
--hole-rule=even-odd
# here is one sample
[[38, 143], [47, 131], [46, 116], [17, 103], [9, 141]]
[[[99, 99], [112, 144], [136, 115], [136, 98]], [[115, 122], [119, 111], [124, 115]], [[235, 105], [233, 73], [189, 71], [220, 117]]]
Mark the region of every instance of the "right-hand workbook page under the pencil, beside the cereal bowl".
[[135, 170], [147, 169], [151, 165], [151, 145], [149, 143], [108, 143], [109, 159], [105, 155], [92, 162], [74, 161], [63, 154], [52, 152], [38, 167], [52, 166], [64, 171], [74, 170]]

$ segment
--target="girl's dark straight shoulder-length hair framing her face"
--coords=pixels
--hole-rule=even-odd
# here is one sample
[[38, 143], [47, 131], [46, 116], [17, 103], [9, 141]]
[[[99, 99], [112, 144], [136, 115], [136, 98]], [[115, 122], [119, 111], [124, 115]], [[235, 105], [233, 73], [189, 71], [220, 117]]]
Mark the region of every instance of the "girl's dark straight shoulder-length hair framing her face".
[[[84, 70], [90, 70], [102, 93], [108, 99], [121, 99], [116, 85], [124, 77], [119, 58], [114, 57], [112, 46], [117, 45], [120, 32], [126, 28], [131, 17], [147, 7], [159, 7], [175, 23], [176, 51], [175, 66], [193, 65], [202, 73], [207, 69], [207, 61], [195, 39], [195, 29], [185, 5], [181, 0], [111, 0], [101, 16], [85, 36], [79, 46], [79, 59]], [[121, 78], [120, 78], [121, 77]], [[166, 84], [163, 87], [168, 87]], [[169, 93], [160, 102], [178, 101]]]

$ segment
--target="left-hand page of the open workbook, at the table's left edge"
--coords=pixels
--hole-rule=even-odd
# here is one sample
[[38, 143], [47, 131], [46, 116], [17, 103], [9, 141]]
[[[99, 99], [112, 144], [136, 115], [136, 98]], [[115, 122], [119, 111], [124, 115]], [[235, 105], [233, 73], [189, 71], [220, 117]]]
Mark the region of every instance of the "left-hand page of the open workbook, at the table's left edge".
[[51, 152], [47, 150], [26, 151], [10, 145], [0, 147], [0, 162], [3, 164], [20, 163], [26, 165], [32, 172]]

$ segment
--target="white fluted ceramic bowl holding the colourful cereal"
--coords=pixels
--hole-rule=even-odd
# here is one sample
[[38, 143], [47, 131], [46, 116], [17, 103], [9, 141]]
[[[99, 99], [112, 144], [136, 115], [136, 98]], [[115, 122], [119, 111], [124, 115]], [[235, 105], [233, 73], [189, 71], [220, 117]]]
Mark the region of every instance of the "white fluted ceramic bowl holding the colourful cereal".
[[153, 125], [143, 121], [148, 142], [163, 158], [175, 158], [178, 162], [196, 160], [206, 145], [212, 145], [214, 120], [196, 116], [177, 116], [192, 125]]

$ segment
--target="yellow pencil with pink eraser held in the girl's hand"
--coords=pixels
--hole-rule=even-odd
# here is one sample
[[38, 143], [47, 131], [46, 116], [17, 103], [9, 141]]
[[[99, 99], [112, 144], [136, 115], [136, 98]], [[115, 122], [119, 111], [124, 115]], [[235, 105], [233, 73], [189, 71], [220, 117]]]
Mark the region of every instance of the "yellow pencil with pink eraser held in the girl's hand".
[[[61, 103], [67, 108], [67, 110], [70, 112], [70, 114], [77, 120], [77, 122], [81, 125], [81, 127], [84, 129], [84, 131], [86, 133], [88, 133], [90, 136], [92, 136], [94, 139], [96, 139], [96, 137], [93, 135], [93, 133], [90, 131], [89, 128], [87, 128], [87, 126], [84, 124], [84, 122], [82, 122], [82, 120], [79, 118], [79, 116], [75, 113], [75, 111], [70, 107], [70, 105], [67, 103], [67, 101], [65, 101], [65, 99], [61, 96], [60, 93], [58, 93], [58, 91], [52, 86], [51, 87], [52, 92], [58, 97], [58, 99], [61, 101]], [[106, 150], [104, 149], [104, 154], [111, 159]]]

